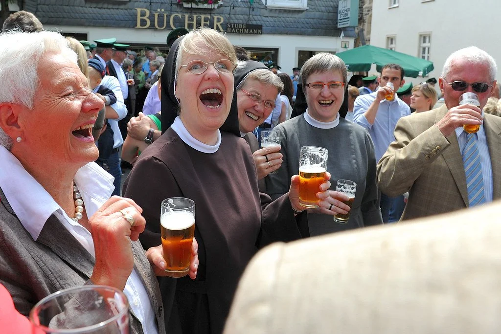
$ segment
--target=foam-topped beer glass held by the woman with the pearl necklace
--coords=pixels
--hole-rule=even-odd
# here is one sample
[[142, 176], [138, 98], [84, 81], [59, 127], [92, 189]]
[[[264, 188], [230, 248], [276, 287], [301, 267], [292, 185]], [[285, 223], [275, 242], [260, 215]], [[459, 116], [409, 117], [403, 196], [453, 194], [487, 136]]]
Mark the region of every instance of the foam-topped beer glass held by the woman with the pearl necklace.
[[164, 199], [160, 216], [160, 233], [167, 276], [176, 278], [186, 276], [195, 234], [195, 202], [184, 197]]

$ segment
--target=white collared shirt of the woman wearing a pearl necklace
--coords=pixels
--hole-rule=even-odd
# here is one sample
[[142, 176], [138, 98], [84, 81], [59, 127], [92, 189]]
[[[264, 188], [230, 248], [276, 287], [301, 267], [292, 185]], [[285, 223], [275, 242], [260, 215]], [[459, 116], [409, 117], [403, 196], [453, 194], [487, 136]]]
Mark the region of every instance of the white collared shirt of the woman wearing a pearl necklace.
[[[5, 147], [0, 146], [0, 188], [24, 228], [37, 240], [47, 219], [55, 214], [63, 226], [95, 257], [91, 233], [70, 218], [52, 196], [31, 176], [19, 160]], [[80, 168], [75, 183], [82, 195], [85, 212], [91, 217], [108, 200], [113, 189], [113, 176], [96, 163]], [[23, 189], [23, 191], [19, 191]], [[145, 333], [158, 333], [155, 312], [148, 293], [135, 269], [127, 279], [124, 293], [130, 307], [141, 321]]]

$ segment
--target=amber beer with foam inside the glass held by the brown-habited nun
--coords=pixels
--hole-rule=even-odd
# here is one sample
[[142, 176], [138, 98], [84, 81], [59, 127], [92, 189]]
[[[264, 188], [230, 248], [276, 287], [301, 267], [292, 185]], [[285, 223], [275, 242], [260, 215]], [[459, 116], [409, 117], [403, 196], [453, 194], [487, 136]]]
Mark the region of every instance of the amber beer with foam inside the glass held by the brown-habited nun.
[[299, 169], [299, 203], [306, 208], [316, 208], [320, 201], [317, 193], [320, 185], [325, 182], [325, 172], [322, 167], [302, 167]]

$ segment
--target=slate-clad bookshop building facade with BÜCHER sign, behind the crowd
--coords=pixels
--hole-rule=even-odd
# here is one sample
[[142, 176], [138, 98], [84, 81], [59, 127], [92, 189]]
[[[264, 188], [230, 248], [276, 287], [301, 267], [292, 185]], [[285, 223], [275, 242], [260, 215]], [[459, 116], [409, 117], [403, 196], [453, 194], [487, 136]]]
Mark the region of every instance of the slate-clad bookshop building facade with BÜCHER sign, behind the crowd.
[[353, 48], [354, 29], [337, 29], [338, 0], [194, 1], [26, 0], [25, 10], [46, 30], [88, 41], [115, 37], [137, 49], [166, 51], [172, 29], [209, 27], [225, 32], [253, 59], [274, 62], [290, 74], [318, 52]]

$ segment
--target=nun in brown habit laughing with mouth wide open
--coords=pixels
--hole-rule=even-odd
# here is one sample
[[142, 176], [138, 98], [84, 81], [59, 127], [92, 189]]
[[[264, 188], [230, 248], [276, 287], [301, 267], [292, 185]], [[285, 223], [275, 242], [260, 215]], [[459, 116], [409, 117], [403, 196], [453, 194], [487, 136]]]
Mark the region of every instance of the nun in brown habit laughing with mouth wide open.
[[162, 75], [167, 131], [139, 156], [124, 184], [125, 196], [143, 208], [145, 249], [161, 243], [162, 200], [180, 196], [196, 204], [196, 279], [159, 278], [169, 334], [222, 332], [250, 258], [271, 242], [302, 237], [295, 219], [302, 210], [299, 176], [276, 201], [258, 190], [256, 165], [238, 127], [235, 65], [232, 45], [212, 29], [174, 42]]

